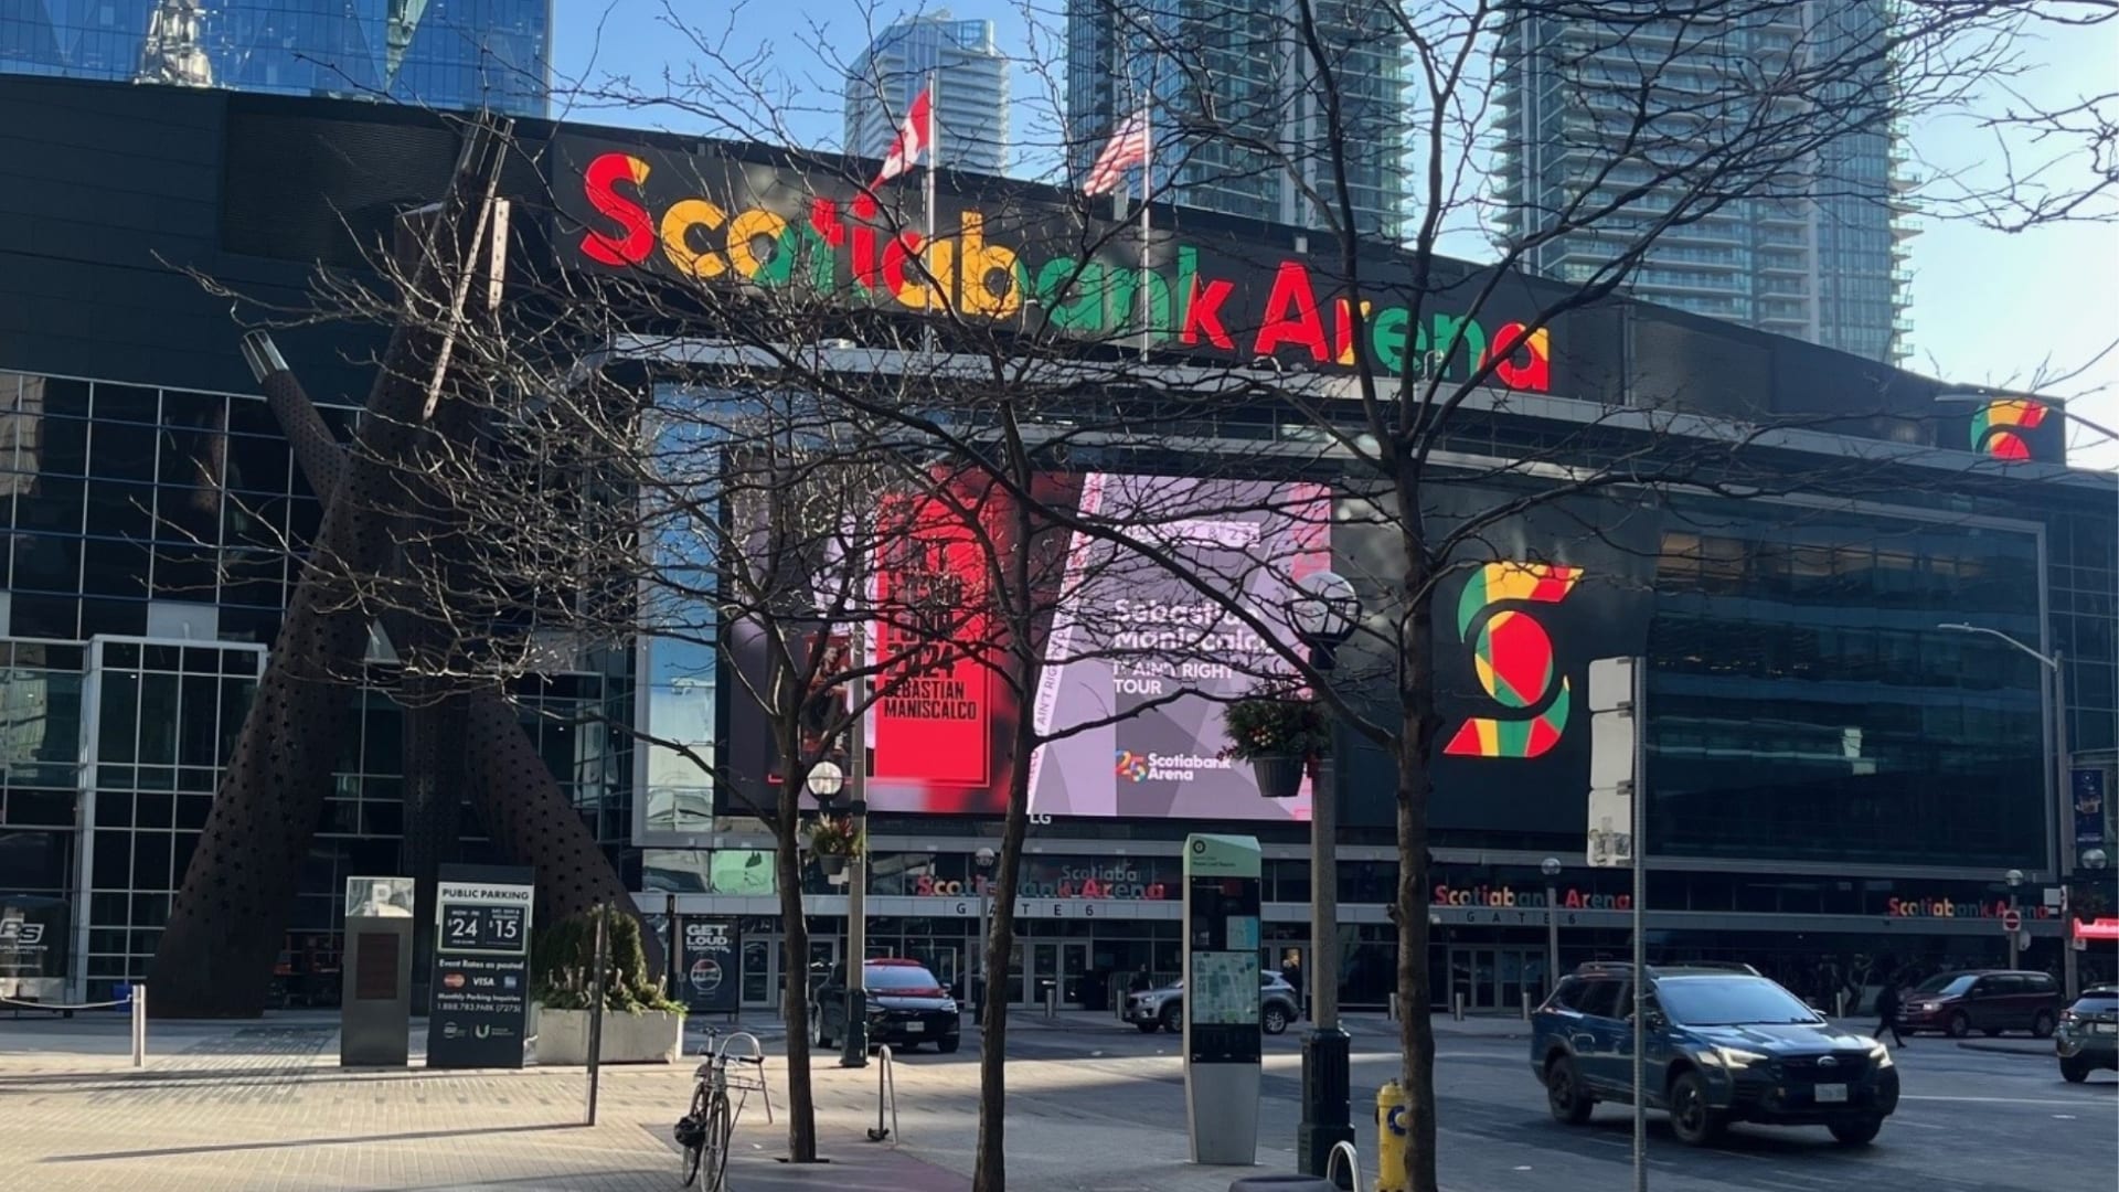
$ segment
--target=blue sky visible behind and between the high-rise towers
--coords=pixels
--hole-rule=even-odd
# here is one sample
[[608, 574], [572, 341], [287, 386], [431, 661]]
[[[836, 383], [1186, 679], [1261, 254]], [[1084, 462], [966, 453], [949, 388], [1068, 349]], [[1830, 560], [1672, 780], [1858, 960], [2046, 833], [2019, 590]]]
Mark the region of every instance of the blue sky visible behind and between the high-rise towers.
[[[1062, 0], [1032, 0], [1047, 38], [1064, 32]], [[699, 34], [699, 42], [720, 49], [712, 62], [697, 45], [670, 25], [670, 11]], [[934, 11], [926, 6], [924, 11]], [[1047, 112], [1051, 87], [1060, 83], [1064, 47], [1032, 42], [1032, 23], [1021, 0], [958, 0], [947, 6], [964, 19], [992, 19], [1004, 53], [1015, 57], [1015, 110], [1019, 140], [1051, 140], [1026, 123]], [[860, 0], [557, 0], [555, 66], [562, 81], [604, 85], [629, 78], [615, 91], [661, 93], [663, 78], [689, 72], [712, 74], [723, 87], [756, 83], [769, 100], [725, 112], [725, 127], [704, 115], [676, 110], [617, 110], [583, 104], [572, 119], [663, 127], [706, 136], [740, 129], [767, 132], [805, 144], [837, 144], [837, 64], [856, 55], [871, 28], [903, 11], [922, 6]], [[871, 25], [873, 19], [873, 25]], [[2119, 28], [2077, 30], [2022, 47], [2036, 70], [2017, 83], [2034, 98], [2079, 98], [2108, 89], [2119, 62]], [[1049, 129], [1049, 125], [1045, 125]], [[1990, 180], [2002, 153], [1992, 136], [1971, 121], [1935, 121], [1913, 132], [1913, 157], [1930, 176], [1958, 174], [1971, 182]], [[2049, 146], [2022, 140], [2009, 151], [2017, 165], [2055, 157]], [[2043, 157], [2041, 157], [2043, 155]], [[2087, 163], [2062, 157], [2053, 178], [2087, 176]], [[2060, 373], [2077, 373], [2045, 386], [2068, 397], [2075, 409], [2119, 431], [2119, 225], [2064, 225], [2028, 233], [2000, 233], [1966, 223], [1928, 218], [1913, 242], [1913, 361], [1916, 371], [1964, 384], [2011, 386]], [[2100, 352], [2102, 358], [2096, 358]], [[2119, 443], [2077, 426], [2070, 435], [2075, 460], [2119, 469]]]

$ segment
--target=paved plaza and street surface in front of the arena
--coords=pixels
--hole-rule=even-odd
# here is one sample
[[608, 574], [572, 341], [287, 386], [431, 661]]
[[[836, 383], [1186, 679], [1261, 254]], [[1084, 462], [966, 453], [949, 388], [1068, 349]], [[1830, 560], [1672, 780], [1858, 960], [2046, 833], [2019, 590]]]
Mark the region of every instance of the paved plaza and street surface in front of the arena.
[[[776, 1024], [756, 1024], [771, 1052]], [[1392, 1027], [1354, 1020], [1356, 1120], [1373, 1171], [1365, 1099], [1392, 1071]], [[1515, 1020], [1439, 1022], [1443, 1186], [1452, 1192], [1623, 1188], [1627, 1116], [1555, 1126], [1530, 1080]], [[877, 1067], [814, 1069], [822, 1167], [776, 1162], [784, 1116], [752, 1101], [737, 1124], [737, 1192], [960, 1192], [977, 1126], [973, 1039], [958, 1056], [894, 1063], [892, 1143], [871, 1143]], [[672, 1190], [670, 1122], [689, 1067], [604, 1069], [583, 1126], [583, 1069], [341, 1071], [337, 1022], [155, 1024], [150, 1058], [127, 1060], [119, 1018], [0, 1018], [0, 1188], [36, 1190]], [[1023, 1192], [1223, 1192], [1240, 1169], [1187, 1162], [1176, 1039], [1108, 1016], [1026, 1016], [1009, 1039], [1009, 1188]], [[2119, 1171], [2119, 1082], [2066, 1086], [2043, 1046], [1962, 1048], [1918, 1039], [1903, 1054], [1907, 1101], [1877, 1145], [1822, 1130], [1740, 1128], [1714, 1150], [1678, 1147], [1659, 1122], [1651, 1188], [1674, 1192], [2108, 1192]], [[1257, 1171], [1290, 1171], [1299, 1031], [1269, 1039]], [[784, 1067], [769, 1065], [776, 1105]]]

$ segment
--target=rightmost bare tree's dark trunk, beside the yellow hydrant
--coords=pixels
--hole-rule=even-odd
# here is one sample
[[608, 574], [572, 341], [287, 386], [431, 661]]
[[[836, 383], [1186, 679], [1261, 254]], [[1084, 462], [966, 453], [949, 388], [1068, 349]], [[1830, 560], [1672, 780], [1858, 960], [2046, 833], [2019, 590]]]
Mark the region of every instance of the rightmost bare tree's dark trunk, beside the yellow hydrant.
[[1432, 728], [1430, 602], [1418, 488], [1401, 488], [1405, 592], [1413, 596], [1399, 670], [1399, 1084], [1405, 1086], [1405, 1188], [1439, 1192], [1435, 1171], [1435, 1024], [1428, 971], [1428, 742]]

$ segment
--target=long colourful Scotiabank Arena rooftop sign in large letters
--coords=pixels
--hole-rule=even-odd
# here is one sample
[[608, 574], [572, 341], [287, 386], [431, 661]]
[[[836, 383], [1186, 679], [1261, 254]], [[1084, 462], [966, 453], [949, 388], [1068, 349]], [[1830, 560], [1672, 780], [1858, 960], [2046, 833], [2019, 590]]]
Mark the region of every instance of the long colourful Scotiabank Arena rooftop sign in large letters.
[[[884, 208], [826, 170], [801, 174], [566, 136], [555, 148], [555, 250], [578, 269], [799, 286], [850, 308], [954, 310], [1127, 344], [1140, 339], [1146, 312], [1146, 339], [1242, 363], [1278, 356], [1346, 369], [1367, 358], [1394, 375], [1439, 367], [1445, 380], [1492, 363], [1496, 388], [1553, 388], [1551, 329], [1454, 310], [1447, 295], [1430, 295], [1415, 314], [1392, 299], [1405, 278], [1388, 255], [1377, 255], [1365, 278], [1356, 329], [1322, 250], [1297, 255], [1227, 233], [1195, 240], [1176, 227], [1153, 233], [1142, 267], [1132, 227], [1089, 221], [1057, 193], [1026, 197], [1023, 187], [1000, 182], [992, 199], [943, 193], [930, 244], [918, 178], [890, 187], [882, 197], [903, 206]], [[1475, 286], [1462, 291], [1468, 301]], [[1524, 284], [1509, 291], [1500, 286], [1500, 301], [1524, 299], [1530, 310]]]

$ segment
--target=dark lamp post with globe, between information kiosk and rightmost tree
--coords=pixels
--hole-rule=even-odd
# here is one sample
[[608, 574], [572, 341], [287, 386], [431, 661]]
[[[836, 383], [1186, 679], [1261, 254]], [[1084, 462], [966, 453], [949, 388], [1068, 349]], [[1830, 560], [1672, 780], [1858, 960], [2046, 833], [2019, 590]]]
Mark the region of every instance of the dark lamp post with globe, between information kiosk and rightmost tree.
[[[1310, 666], [1329, 674], [1337, 649], [1354, 634], [1360, 600], [1337, 573], [1297, 581], [1288, 619]], [[1354, 1039], [1339, 1029], [1339, 800], [1335, 783], [1310, 781], [1310, 1037], [1303, 1039], [1303, 1118], [1295, 1128], [1295, 1160], [1303, 1175], [1326, 1175], [1331, 1152], [1354, 1141]]]

